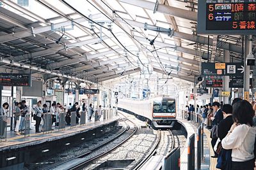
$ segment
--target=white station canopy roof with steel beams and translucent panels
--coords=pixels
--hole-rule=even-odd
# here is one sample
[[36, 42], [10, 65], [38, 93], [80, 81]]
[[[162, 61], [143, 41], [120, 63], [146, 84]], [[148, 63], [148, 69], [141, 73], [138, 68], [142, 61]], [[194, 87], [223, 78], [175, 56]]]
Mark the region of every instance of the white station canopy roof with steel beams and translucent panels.
[[242, 36], [196, 34], [195, 0], [0, 2], [2, 73], [92, 83], [160, 73], [194, 82], [200, 62], [222, 62], [223, 50], [241, 60]]

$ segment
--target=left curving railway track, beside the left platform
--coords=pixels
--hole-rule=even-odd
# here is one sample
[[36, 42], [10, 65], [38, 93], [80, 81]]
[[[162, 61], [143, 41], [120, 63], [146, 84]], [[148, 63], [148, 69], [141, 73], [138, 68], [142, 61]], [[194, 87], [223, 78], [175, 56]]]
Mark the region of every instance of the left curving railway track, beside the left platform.
[[[118, 146], [122, 145], [123, 143], [125, 143], [125, 141], [130, 139], [136, 133], [136, 131], [138, 129], [137, 125], [134, 124], [133, 122], [131, 122], [131, 120], [125, 118], [124, 121], [128, 121], [128, 122], [130, 122], [130, 124], [133, 124], [133, 125], [127, 124], [125, 131], [132, 129], [132, 133], [127, 138], [125, 138], [122, 142], [117, 143], [113, 147], [108, 146], [109, 143], [115, 143], [114, 141], [116, 139], [118, 139], [120, 136], [122, 136], [122, 134], [124, 134], [125, 131], [123, 131], [118, 136], [116, 136], [116, 138], [113, 138], [106, 143], [102, 143], [102, 145], [97, 146], [96, 148], [93, 148], [92, 150], [90, 150], [86, 153], [83, 153], [83, 154], [81, 154], [77, 157], [74, 157], [73, 159], [67, 160], [65, 162], [55, 164], [54, 166], [47, 167], [45, 170], [49, 170], [49, 169], [83, 169], [87, 164], [90, 164], [90, 162], [92, 162], [93, 160], [99, 159], [99, 157], [106, 155], [107, 153], [111, 152], [112, 150], [115, 150], [116, 148], [118, 148]], [[96, 154], [94, 153], [96, 151], [99, 151], [102, 147], [108, 147], [108, 150], [102, 151], [102, 152], [99, 152]]]

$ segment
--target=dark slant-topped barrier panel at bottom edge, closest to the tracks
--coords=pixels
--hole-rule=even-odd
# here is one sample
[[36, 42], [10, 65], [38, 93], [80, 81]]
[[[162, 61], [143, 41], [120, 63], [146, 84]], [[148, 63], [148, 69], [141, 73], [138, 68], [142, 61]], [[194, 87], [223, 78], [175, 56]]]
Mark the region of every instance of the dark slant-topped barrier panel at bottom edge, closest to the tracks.
[[180, 147], [174, 148], [168, 155], [166, 155], [166, 157], [164, 157], [162, 169], [180, 169]]

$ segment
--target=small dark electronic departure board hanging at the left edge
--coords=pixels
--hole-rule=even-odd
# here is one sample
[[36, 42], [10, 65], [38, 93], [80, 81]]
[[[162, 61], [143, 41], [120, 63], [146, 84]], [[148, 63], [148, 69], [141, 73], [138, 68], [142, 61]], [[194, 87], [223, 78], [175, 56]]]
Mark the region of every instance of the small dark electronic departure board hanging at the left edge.
[[31, 87], [31, 74], [0, 73], [0, 85]]

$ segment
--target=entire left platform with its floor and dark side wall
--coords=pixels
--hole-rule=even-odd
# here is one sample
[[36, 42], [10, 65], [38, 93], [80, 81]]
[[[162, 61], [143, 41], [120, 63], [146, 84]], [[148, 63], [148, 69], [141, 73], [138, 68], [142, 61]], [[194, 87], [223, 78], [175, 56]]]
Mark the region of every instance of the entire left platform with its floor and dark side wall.
[[58, 127], [52, 127], [54, 130], [48, 133], [35, 133], [33, 125], [35, 123], [32, 122], [29, 136], [16, 136], [15, 132], [8, 131], [6, 141], [0, 142], [0, 169], [23, 168], [27, 161], [31, 162], [42, 157], [42, 154], [51, 155], [56, 147], [63, 147], [65, 150], [64, 147], [76, 143], [78, 139], [86, 141], [97, 138], [102, 133], [111, 131], [118, 119], [119, 117], [114, 115], [96, 122], [95, 120], [89, 122], [86, 119], [84, 125], [77, 124], [75, 127], [66, 125], [61, 131]]

